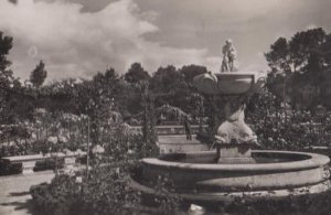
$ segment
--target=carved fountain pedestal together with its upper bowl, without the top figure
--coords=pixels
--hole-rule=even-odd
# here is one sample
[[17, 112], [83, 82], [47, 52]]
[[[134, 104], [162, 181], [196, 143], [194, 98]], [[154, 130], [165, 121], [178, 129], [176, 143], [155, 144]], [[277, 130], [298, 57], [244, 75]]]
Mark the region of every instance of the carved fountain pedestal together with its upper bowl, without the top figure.
[[257, 146], [257, 137], [245, 123], [245, 104], [265, 82], [260, 73], [202, 74], [194, 77], [196, 88], [209, 95], [225, 98], [224, 119], [215, 135], [218, 163], [252, 163], [250, 147]]

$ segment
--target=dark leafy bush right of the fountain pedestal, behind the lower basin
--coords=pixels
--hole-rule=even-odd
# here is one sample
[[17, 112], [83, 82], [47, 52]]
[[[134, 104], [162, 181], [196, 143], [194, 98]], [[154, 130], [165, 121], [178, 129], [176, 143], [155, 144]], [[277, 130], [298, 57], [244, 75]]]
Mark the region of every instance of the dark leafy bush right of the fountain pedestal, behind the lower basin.
[[302, 150], [331, 143], [327, 135], [331, 122], [328, 111], [291, 109], [267, 90], [252, 98], [246, 115], [246, 121], [267, 149]]

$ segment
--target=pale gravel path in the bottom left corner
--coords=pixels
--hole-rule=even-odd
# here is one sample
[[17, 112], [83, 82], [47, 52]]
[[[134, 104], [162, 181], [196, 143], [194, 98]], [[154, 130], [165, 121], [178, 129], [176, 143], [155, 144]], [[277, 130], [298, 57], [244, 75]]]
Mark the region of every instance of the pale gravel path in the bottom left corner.
[[31, 185], [50, 182], [53, 171], [36, 172], [29, 175], [0, 176], [0, 214], [26, 215], [33, 214], [31, 208]]

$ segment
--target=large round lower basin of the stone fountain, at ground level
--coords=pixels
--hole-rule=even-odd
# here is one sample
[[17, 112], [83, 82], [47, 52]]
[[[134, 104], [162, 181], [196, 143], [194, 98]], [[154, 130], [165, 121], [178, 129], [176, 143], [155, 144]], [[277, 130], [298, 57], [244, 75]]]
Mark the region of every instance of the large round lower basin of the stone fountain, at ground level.
[[160, 178], [186, 198], [231, 195], [289, 195], [329, 189], [330, 159], [292, 151], [252, 150], [255, 163], [216, 163], [214, 151], [164, 154], [143, 159], [137, 185], [151, 191]]

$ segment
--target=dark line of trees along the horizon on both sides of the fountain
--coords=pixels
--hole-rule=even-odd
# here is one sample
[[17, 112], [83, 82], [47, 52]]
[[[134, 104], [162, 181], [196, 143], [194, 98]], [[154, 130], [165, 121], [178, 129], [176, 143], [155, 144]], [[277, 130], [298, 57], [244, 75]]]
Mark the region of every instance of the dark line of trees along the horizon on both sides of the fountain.
[[[13, 123], [19, 118], [32, 117], [35, 108], [50, 111], [68, 111], [92, 117], [118, 111], [130, 118], [143, 111], [146, 90], [156, 107], [170, 105], [192, 115], [200, 115], [196, 107], [203, 105], [206, 112], [209, 98], [195, 90], [192, 80], [195, 75], [209, 72], [205, 66], [172, 65], [148, 73], [140, 63], [119, 75], [109, 67], [98, 72], [92, 79], [68, 78], [43, 85], [47, 72], [41, 61], [31, 72], [29, 82], [22, 84], [10, 69], [7, 58], [13, 39], [0, 32], [0, 121]], [[296, 33], [290, 40], [279, 37], [265, 54], [270, 66], [268, 89], [280, 100], [297, 107], [305, 101], [302, 89], [312, 86], [312, 99], [308, 108], [317, 105], [331, 107], [331, 34], [321, 28]], [[305, 95], [303, 95], [305, 97]], [[204, 103], [203, 103], [204, 101]], [[323, 104], [324, 103], [324, 104]], [[305, 106], [303, 106], [305, 107]], [[305, 108], [307, 108], [305, 107]], [[201, 108], [200, 108], [201, 109]]]

